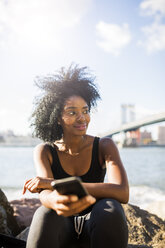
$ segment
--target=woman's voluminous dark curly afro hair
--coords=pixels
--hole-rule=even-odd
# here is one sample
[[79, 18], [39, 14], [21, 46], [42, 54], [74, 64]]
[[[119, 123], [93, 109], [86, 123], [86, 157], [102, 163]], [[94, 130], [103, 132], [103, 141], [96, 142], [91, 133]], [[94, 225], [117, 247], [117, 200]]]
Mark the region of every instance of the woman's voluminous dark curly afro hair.
[[96, 107], [100, 95], [93, 83], [94, 77], [87, 72], [87, 67], [79, 68], [71, 65], [61, 68], [55, 75], [37, 78], [36, 85], [42, 94], [36, 98], [35, 110], [31, 116], [33, 136], [45, 142], [54, 142], [62, 138], [63, 130], [58, 124], [66, 99], [71, 96], [82, 97], [89, 111]]

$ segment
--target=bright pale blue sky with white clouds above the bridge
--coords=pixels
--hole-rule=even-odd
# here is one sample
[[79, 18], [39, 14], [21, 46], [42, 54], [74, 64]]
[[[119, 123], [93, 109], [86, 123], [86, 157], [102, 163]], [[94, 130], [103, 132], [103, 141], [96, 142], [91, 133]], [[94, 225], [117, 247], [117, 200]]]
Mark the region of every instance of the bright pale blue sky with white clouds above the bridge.
[[164, 61], [165, 0], [0, 0], [0, 132], [31, 133], [35, 78], [71, 63], [99, 86], [89, 133], [120, 126], [121, 104], [163, 112]]

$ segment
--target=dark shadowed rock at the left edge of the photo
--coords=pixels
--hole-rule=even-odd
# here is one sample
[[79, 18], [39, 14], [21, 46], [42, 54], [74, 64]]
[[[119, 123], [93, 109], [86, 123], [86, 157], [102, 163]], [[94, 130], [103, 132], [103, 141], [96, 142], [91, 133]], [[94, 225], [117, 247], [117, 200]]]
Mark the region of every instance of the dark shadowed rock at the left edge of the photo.
[[19, 233], [20, 230], [13, 213], [13, 208], [0, 189], [0, 233], [11, 236], [15, 236]]

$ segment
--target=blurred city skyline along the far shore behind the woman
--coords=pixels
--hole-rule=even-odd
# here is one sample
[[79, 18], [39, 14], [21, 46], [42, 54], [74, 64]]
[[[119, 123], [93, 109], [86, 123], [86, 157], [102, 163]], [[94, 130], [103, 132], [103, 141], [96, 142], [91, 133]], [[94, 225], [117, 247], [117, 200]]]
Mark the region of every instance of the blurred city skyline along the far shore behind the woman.
[[[165, 147], [165, 126], [157, 127], [157, 137], [146, 129], [136, 129], [120, 132], [111, 137], [119, 148], [122, 147]], [[106, 134], [105, 134], [106, 135]], [[108, 134], [107, 134], [108, 135]], [[101, 135], [102, 137], [102, 135]], [[30, 147], [41, 142], [31, 135], [15, 135], [12, 130], [0, 132], [0, 146], [3, 147]]]

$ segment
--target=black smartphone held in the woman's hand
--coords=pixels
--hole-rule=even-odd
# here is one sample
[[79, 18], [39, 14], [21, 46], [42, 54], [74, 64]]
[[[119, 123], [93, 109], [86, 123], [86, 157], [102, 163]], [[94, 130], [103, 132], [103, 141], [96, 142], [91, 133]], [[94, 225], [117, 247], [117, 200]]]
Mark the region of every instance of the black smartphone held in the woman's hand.
[[87, 190], [81, 183], [79, 177], [67, 177], [63, 179], [54, 180], [51, 186], [56, 189], [61, 195], [77, 195], [82, 198], [88, 195]]

